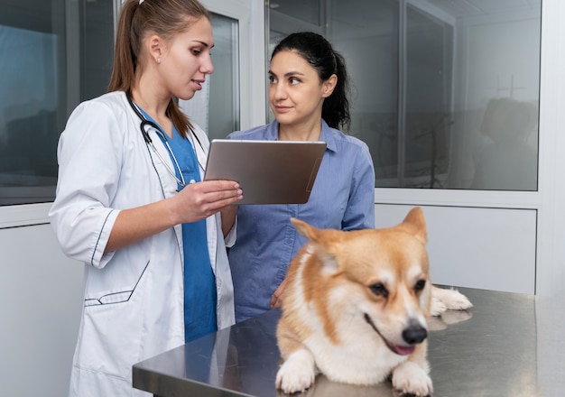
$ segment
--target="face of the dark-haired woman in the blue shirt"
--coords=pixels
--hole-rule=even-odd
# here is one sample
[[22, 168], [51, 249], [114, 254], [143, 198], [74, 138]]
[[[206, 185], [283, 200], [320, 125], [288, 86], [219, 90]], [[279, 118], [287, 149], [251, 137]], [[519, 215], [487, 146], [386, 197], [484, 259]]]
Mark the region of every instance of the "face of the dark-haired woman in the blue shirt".
[[318, 122], [324, 97], [329, 94], [316, 69], [301, 55], [294, 51], [274, 55], [269, 69], [269, 104], [281, 125]]

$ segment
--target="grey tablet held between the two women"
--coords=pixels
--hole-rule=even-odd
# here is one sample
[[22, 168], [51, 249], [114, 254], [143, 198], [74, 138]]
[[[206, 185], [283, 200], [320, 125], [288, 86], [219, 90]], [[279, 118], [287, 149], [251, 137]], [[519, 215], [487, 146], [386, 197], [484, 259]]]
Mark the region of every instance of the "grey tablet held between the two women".
[[325, 151], [319, 141], [215, 139], [204, 180], [236, 180], [244, 195], [237, 204], [303, 204]]

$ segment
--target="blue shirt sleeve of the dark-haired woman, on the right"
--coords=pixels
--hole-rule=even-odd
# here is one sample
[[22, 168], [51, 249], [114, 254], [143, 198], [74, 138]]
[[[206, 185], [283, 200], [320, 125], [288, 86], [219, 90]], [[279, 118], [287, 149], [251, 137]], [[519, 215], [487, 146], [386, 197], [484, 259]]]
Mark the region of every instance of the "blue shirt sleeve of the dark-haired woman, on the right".
[[375, 228], [375, 168], [366, 143], [360, 142], [353, 162], [353, 182], [341, 228]]

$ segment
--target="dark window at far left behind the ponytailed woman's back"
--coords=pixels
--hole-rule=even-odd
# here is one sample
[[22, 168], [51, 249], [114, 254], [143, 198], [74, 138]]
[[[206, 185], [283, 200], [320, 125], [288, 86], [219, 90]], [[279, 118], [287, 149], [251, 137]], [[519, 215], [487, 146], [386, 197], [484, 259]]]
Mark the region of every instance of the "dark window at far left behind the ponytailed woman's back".
[[0, 205], [54, 198], [69, 111], [107, 88], [112, 12], [111, 0], [0, 0]]

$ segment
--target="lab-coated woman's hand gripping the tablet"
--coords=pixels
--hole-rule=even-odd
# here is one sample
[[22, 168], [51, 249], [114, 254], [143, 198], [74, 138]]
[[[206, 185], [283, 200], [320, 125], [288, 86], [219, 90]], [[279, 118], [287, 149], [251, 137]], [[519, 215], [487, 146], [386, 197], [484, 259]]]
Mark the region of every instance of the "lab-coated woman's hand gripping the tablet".
[[243, 199], [239, 184], [233, 180], [205, 180], [185, 186], [174, 200], [176, 224], [196, 222]]

